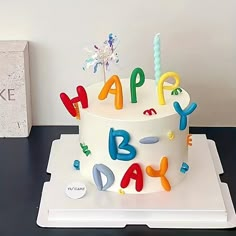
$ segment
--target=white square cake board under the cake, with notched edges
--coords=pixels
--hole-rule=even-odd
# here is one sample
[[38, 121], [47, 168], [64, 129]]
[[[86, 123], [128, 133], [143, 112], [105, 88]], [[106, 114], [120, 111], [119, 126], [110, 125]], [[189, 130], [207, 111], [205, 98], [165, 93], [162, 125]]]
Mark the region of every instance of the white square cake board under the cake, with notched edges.
[[[41, 227], [233, 228], [236, 215], [215, 143], [193, 135], [190, 170], [171, 192], [124, 194], [98, 191], [84, 181], [73, 162], [78, 159], [78, 135], [62, 135], [52, 144], [37, 224]], [[86, 195], [77, 200], [65, 194], [66, 186], [82, 181]]]

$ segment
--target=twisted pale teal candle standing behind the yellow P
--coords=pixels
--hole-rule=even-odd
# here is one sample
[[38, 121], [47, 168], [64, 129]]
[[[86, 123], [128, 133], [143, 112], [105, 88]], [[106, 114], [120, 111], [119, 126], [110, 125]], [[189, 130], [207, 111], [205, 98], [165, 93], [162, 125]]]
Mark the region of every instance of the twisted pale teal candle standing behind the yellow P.
[[155, 70], [155, 80], [156, 84], [161, 77], [161, 53], [160, 53], [160, 34], [156, 34], [153, 41], [154, 50], [154, 70]]

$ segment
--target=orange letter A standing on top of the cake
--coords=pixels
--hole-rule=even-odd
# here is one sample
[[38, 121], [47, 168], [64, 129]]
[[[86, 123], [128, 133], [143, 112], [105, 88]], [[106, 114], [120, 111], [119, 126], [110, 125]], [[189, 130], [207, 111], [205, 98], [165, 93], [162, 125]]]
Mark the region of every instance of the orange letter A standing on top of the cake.
[[[115, 89], [112, 89], [112, 85], [115, 84]], [[117, 75], [113, 75], [103, 86], [98, 99], [104, 100], [107, 98], [108, 93], [115, 95], [115, 108], [120, 110], [123, 108], [123, 92], [120, 79]]]

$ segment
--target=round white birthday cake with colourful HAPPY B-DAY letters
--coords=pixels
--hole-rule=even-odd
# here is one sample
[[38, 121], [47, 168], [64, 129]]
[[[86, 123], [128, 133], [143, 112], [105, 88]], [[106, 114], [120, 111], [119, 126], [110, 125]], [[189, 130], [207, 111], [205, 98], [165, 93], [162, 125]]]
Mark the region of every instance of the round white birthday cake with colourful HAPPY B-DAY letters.
[[[61, 93], [63, 104], [79, 122], [74, 168], [98, 191], [171, 191], [191, 170], [188, 120], [197, 105], [190, 103], [177, 73], [157, 77], [146, 79], [136, 68], [130, 78], [113, 75], [86, 88], [80, 85], [72, 99]], [[170, 78], [173, 84], [167, 82]]]

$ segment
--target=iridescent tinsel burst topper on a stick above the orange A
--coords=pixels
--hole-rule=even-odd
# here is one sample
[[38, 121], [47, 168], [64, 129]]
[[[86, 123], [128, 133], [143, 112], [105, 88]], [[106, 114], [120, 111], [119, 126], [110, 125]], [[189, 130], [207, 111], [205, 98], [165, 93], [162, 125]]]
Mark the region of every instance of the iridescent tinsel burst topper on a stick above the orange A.
[[116, 53], [116, 48], [118, 46], [118, 38], [116, 35], [110, 33], [108, 39], [105, 40], [101, 47], [97, 45], [93, 46], [90, 50], [86, 48], [85, 50], [90, 54], [90, 57], [85, 60], [85, 65], [83, 69], [93, 68], [93, 72], [98, 71], [98, 67], [102, 66], [104, 83], [106, 82], [106, 70], [108, 70], [110, 63], [119, 62], [118, 54]]

